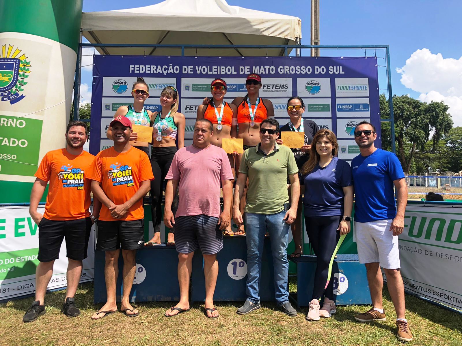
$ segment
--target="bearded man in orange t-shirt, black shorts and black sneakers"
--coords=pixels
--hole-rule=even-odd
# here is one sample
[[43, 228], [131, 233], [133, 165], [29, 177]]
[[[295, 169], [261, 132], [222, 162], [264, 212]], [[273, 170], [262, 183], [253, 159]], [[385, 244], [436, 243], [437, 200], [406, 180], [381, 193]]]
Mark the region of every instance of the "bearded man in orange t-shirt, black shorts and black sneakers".
[[[74, 304], [74, 294], [82, 272], [82, 260], [87, 257], [91, 225], [101, 208], [101, 203], [95, 199], [93, 215], [89, 211], [91, 197], [87, 173], [95, 156], [83, 150], [86, 140], [85, 123], [71, 121], [66, 130], [66, 148], [46, 153], [35, 173], [29, 213], [38, 225], [40, 263], [36, 268], [36, 301], [24, 314], [23, 322], [35, 321], [45, 313], [43, 300], [63, 239], [66, 239], [69, 264], [67, 292], [62, 311], [68, 317], [80, 314]], [[48, 181], [50, 185], [47, 203], [42, 215], [37, 212], [37, 207]]]

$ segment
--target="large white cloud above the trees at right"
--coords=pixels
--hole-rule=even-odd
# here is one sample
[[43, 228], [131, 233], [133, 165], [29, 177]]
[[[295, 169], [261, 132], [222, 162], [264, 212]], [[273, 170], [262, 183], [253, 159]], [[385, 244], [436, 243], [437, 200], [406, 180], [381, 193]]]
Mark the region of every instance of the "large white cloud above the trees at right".
[[396, 72], [401, 73], [401, 84], [421, 93], [420, 101], [444, 101], [454, 126], [462, 126], [462, 57], [444, 59], [440, 53], [418, 49]]

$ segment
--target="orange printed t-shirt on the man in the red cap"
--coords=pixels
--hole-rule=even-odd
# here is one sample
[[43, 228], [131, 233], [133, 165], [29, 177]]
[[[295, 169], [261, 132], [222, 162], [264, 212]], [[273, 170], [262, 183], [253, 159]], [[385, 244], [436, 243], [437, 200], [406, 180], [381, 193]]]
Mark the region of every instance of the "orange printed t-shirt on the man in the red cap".
[[[100, 151], [87, 176], [88, 179], [100, 182], [106, 196], [116, 205], [133, 197], [140, 189], [142, 181], [154, 179], [149, 157], [133, 147], [125, 153], [118, 153], [114, 147]], [[133, 221], [143, 218], [143, 198], [136, 201], [122, 218], [113, 218], [104, 204], [99, 213], [99, 220], [102, 221]]]

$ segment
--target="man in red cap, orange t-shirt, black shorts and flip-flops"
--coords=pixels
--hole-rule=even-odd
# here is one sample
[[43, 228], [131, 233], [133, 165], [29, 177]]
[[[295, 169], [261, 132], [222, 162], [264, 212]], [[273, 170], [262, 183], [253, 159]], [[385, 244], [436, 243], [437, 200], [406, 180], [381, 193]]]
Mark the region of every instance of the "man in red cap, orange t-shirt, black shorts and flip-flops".
[[154, 179], [149, 157], [130, 145], [132, 122], [124, 116], [111, 121], [114, 146], [100, 151], [91, 165], [88, 179], [91, 191], [101, 203], [98, 220], [97, 250], [105, 251], [107, 302], [91, 316], [102, 318], [117, 311], [116, 282], [120, 248], [123, 257], [123, 314], [138, 316], [129, 296], [135, 277], [136, 250], [144, 246], [143, 197]]

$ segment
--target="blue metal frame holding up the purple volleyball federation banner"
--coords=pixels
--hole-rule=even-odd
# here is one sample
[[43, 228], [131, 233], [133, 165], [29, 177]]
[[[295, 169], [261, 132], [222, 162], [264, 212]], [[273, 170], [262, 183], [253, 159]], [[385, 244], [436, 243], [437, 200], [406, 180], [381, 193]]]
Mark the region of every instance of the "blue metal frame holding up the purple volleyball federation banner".
[[[181, 56], [184, 56], [185, 48], [262, 48], [262, 49], [284, 49], [284, 56], [288, 56], [288, 50], [293, 48], [302, 49], [385, 49], [386, 53], [386, 69], [387, 69], [387, 83], [388, 83], [388, 103], [390, 109], [389, 119], [381, 119], [381, 121], [389, 121], [391, 127], [391, 150], [396, 153], [395, 147], [395, 118], [393, 113], [393, 93], [391, 91], [391, 70], [390, 70], [390, 47], [389, 45], [365, 45], [365, 46], [350, 46], [350, 45], [329, 45], [329, 46], [316, 46], [316, 45], [236, 45], [236, 44], [119, 44], [119, 43], [79, 43], [77, 66], [75, 68], [75, 81], [74, 81], [74, 120], [79, 119], [79, 83], [80, 71], [79, 60], [81, 59], [82, 48], [181, 48]], [[86, 120], [86, 119], [85, 119]], [[90, 121], [90, 120], [86, 120]]]

